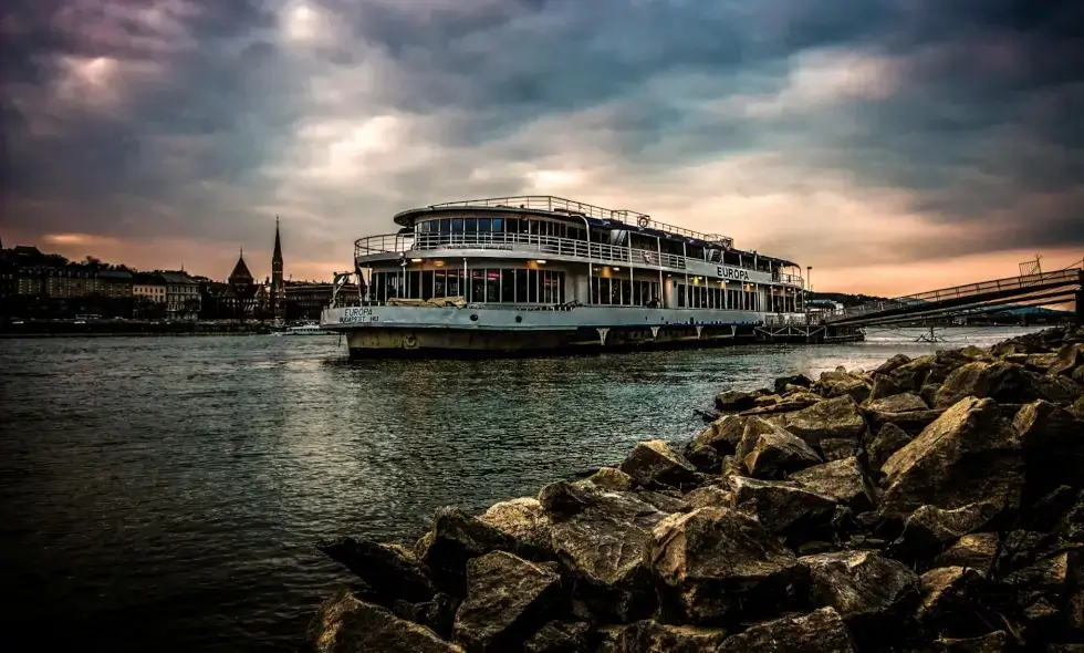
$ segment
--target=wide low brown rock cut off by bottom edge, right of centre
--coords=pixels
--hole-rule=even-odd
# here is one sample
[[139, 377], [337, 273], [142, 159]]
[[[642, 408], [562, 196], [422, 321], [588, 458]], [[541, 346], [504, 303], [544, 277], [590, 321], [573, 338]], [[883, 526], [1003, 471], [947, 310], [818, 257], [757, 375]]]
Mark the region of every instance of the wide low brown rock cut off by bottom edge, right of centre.
[[802, 616], [759, 623], [728, 638], [719, 653], [786, 651], [788, 653], [852, 653], [854, 641], [840, 614], [823, 608]]

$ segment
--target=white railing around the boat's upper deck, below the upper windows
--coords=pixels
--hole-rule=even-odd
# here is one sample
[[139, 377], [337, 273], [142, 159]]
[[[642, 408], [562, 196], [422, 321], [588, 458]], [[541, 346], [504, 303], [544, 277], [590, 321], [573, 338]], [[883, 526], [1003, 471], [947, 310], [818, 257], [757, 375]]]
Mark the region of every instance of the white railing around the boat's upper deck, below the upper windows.
[[[559, 238], [536, 234], [517, 232], [463, 232], [463, 234], [387, 234], [358, 238], [354, 242], [354, 258], [383, 253], [403, 256], [408, 251], [436, 249], [482, 249], [529, 251], [535, 258], [546, 256], [566, 256], [609, 265], [627, 265], [629, 267], [647, 267], [653, 270], [663, 268], [675, 272], [685, 272], [689, 261], [717, 265], [680, 255], [659, 252], [650, 249], [629, 248], [606, 242], [587, 242], [574, 238]], [[452, 256], [449, 253], [449, 256]], [[761, 270], [765, 271], [765, 270]], [[775, 273], [775, 283], [802, 288], [803, 280], [795, 274]]]

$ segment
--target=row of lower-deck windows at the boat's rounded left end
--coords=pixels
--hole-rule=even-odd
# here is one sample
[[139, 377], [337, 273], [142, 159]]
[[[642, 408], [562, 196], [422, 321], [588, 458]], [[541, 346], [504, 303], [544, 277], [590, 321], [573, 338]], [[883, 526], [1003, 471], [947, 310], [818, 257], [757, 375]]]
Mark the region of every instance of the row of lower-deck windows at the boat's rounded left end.
[[374, 272], [372, 299], [462, 297], [472, 303], [563, 303], [564, 272], [475, 269]]

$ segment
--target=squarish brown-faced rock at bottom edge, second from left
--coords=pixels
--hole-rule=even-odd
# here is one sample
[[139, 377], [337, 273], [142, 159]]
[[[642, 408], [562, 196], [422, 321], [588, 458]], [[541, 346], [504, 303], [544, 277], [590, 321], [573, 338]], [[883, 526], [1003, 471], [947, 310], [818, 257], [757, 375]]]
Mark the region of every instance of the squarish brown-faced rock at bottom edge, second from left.
[[467, 598], [452, 639], [467, 651], [520, 647], [560, 611], [561, 577], [534, 562], [494, 551], [467, 563]]

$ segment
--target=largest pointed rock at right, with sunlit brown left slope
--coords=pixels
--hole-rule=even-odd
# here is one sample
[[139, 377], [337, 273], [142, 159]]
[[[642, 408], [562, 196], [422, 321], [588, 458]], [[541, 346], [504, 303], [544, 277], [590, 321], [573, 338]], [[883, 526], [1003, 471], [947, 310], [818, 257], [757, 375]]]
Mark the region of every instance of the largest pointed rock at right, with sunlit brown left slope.
[[1019, 505], [1023, 457], [991, 400], [966, 398], [930, 424], [882, 467], [882, 506], [907, 514], [921, 506], [952, 509], [978, 501]]

